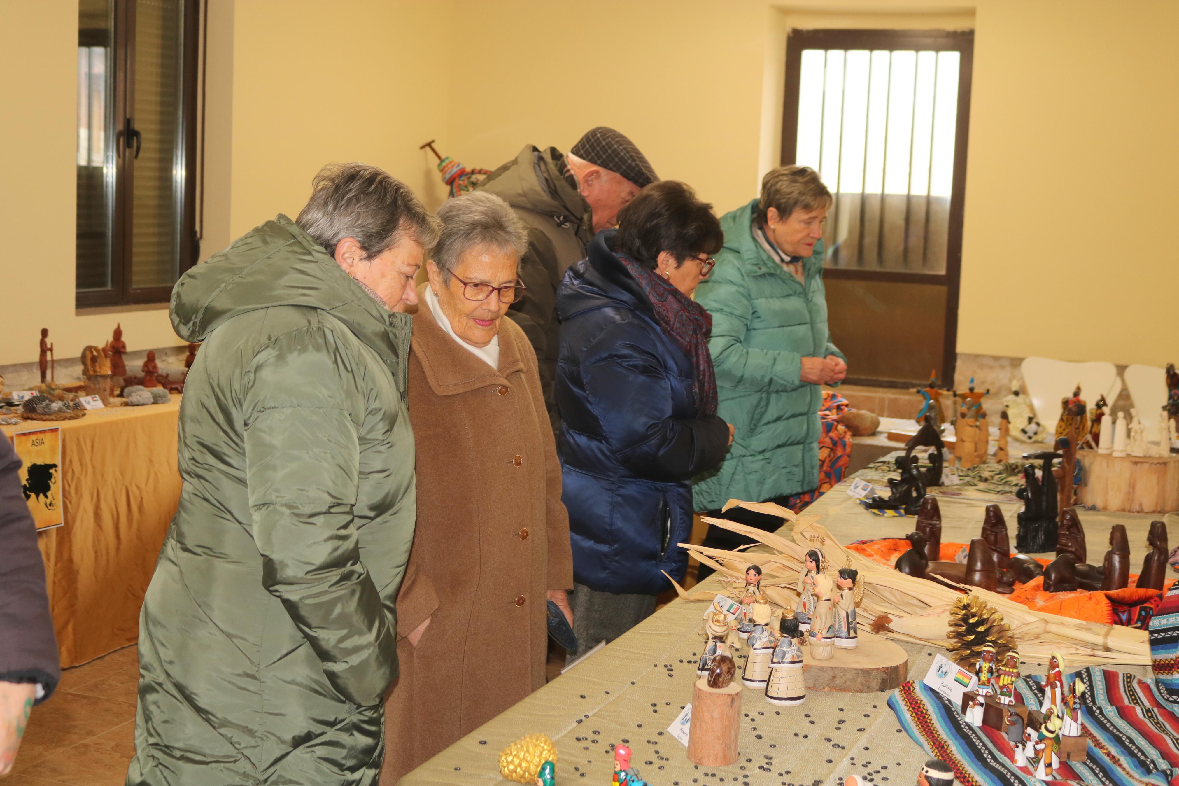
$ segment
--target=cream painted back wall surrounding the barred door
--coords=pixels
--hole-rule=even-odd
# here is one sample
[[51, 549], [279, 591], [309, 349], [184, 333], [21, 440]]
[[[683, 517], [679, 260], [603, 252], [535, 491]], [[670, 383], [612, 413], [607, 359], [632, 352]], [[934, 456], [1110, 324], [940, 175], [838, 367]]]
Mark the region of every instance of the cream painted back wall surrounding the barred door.
[[[903, 14], [898, 14], [903, 11]], [[1179, 4], [1154, 0], [459, 0], [454, 154], [494, 167], [611, 125], [718, 211], [778, 160], [791, 24], [976, 29], [957, 349], [1179, 355]], [[897, 21], [897, 20], [901, 21]], [[935, 24], [931, 24], [935, 22]]]

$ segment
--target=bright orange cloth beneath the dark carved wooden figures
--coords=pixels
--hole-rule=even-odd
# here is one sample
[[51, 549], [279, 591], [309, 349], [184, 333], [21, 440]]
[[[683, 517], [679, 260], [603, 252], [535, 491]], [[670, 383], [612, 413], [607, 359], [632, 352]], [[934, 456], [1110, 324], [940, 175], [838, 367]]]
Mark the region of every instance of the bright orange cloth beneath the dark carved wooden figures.
[[[851, 543], [848, 548], [869, 560], [894, 567], [896, 566], [897, 557], [909, 550], [909, 541], [901, 537], [882, 537], [865, 543]], [[954, 557], [963, 548], [966, 548], [966, 543], [942, 543], [938, 556], [947, 562], [953, 562]], [[1040, 557], [1034, 559], [1043, 566], [1047, 566], [1049, 562], [1049, 560]], [[1015, 592], [1008, 595], [1008, 597], [1016, 603], [1023, 603], [1028, 608], [1043, 612], [1045, 614], [1059, 614], [1060, 616], [1074, 620], [1113, 625], [1114, 617], [1113, 606], [1109, 603], [1111, 600], [1121, 603], [1134, 603], [1147, 600], [1150, 593], [1158, 594], [1158, 590], [1135, 589], [1135, 581], [1138, 581], [1138, 575], [1131, 574], [1131, 586], [1117, 593], [1091, 593], [1084, 589], [1072, 593], [1046, 593], [1043, 592], [1043, 577], [1041, 576], [1033, 579], [1026, 584], [1015, 584]], [[1170, 587], [1170, 583], [1167, 583], [1167, 587]]]

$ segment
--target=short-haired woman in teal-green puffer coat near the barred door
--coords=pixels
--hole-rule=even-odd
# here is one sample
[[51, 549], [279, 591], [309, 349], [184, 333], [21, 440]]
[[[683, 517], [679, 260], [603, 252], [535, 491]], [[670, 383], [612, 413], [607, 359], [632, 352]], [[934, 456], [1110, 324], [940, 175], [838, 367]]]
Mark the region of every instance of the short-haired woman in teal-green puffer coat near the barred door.
[[[789, 507], [818, 486], [819, 385], [838, 384], [848, 371], [826, 329], [830, 205], [818, 173], [780, 166], [766, 173], [758, 199], [720, 219], [725, 245], [697, 302], [712, 315], [717, 414], [735, 435], [720, 468], [694, 480], [698, 510], [719, 510], [730, 498]], [[718, 548], [739, 542], [751, 541], [716, 527], [705, 540]]]

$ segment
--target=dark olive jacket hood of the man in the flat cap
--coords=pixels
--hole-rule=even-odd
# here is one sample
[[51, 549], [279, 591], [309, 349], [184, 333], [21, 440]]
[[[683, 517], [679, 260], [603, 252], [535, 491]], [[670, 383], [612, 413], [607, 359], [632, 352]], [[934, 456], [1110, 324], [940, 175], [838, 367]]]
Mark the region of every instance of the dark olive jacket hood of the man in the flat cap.
[[513, 207], [548, 216], [558, 224], [567, 222], [577, 227], [582, 243], [590, 243], [593, 238], [590, 204], [561, 174], [564, 159], [555, 147], [540, 150], [525, 145], [515, 159], [488, 174], [479, 190], [494, 193]]

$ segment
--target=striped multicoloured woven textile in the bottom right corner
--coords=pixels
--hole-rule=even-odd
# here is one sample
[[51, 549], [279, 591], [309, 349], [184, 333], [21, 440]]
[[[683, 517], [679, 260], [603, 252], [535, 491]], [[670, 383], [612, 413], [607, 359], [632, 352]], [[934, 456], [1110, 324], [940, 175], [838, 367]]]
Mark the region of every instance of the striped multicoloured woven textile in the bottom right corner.
[[[1084, 762], [1061, 761], [1055, 781], [1106, 786], [1179, 786], [1179, 706], [1153, 680], [1089, 667], [1069, 679], [1086, 685], [1081, 721], [1089, 747]], [[1042, 678], [1016, 683], [1023, 704], [1039, 707]], [[889, 698], [901, 727], [930, 757], [946, 761], [962, 786], [1038, 786], [1013, 762], [1012, 744], [995, 729], [975, 728], [938, 693], [905, 682]]]

